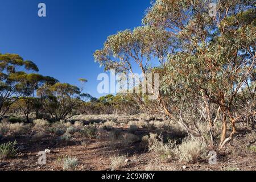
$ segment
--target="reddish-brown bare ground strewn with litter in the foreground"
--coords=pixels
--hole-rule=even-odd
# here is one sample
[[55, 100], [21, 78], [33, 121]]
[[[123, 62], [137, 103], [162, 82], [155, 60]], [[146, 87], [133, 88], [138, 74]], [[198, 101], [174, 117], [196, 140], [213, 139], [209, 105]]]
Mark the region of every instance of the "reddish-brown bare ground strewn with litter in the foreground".
[[[122, 125], [122, 130], [126, 130], [128, 125]], [[155, 129], [144, 129], [138, 127], [137, 135], [144, 135], [154, 132]], [[108, 139], [108, 131], [100, 130], [97, 138], [88, 139], [88, 146], [81, 146], [80, 135], [73, 135], [72, 141], [67, 145], [56, 142], [53, 134], [48, 134], [40, 142], [30, 142], [30, 138], [36, 130], [20, 137], [6, 137], [1, 143], [16, 140], [19, 152], [15, 158], [0, 160], [0, 170], [19, 170], [19, 171], [59, 171], [63, 170], [62, 159], [65, 156], [76, 157], [79, 160], [79, 171], [109, 171], [110, 156], [117, 154], [127, 154], [128, 162], [120, 168], [125, 171], [137, 170], [255, 170], [256, 153], [248, 150], [245, 135], [240, 134], [233, 142], [229, 143], [224, 150], [217, 151], [217, 164], [210, 165], [208, 159], [200, 159], [193, 163], [179, 162], [179, 160], [162, 159], [154, 152], [148, 152], [140, 147], [141, 143], [133, 143], [129, 147], [111, 147]], [[51, 150], [47, 155], [47, 164], [39, 165], [38, 152], [46, 148]], [[209, 148], [212, 150], [212, 148]]]

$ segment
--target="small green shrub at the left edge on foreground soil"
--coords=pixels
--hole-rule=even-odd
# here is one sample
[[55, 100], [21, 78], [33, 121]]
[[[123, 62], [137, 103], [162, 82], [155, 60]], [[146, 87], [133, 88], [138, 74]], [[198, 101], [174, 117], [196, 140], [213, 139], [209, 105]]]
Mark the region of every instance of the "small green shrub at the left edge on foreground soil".
[[16, 155], [16, 140], [14, 142], [3, 143], [0, 145], [0, 159], [13, 158]]

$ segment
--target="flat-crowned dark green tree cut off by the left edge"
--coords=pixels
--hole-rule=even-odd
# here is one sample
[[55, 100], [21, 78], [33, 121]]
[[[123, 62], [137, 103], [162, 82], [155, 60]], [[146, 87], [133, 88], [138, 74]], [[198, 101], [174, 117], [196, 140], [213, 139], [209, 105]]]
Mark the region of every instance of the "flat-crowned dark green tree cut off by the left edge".
[[19, 86], [28, 72], [38, 72], [32, 61], [23, 60], [16, 54], [0, 54], [0, 114], [1, 117], [10, 109], [11, 104], [18, 100], [22, 93]]

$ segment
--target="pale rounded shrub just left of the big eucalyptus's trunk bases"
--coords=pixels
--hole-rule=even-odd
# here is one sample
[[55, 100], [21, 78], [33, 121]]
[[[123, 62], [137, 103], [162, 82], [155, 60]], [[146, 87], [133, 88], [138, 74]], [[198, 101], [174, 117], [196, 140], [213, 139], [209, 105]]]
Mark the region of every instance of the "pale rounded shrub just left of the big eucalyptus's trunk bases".
[[205, 155], [207, 144], [200, 139], [184, 139], [183, 142], [177, 146], [176, 155], [180, 161], [192, 162], [199, 159], [200, 156]]

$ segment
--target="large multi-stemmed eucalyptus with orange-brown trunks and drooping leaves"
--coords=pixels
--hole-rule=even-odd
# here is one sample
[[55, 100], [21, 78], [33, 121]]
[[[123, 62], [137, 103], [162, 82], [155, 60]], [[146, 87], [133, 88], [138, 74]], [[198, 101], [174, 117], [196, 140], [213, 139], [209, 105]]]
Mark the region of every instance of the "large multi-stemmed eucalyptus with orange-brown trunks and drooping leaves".
[[[198, 122], [209, 122], [214, 144], [214, 123], [221, 114], [222, 148], [236, 133], [236, 122], [256, 114], [251, 92], [256, 12], [253, 1], [219, 1], [215, 16], [209, 13], [210, 3], [156, 0], [142, 27], [109, 36], [94, 58], [105, 70], [133, 73], [139, 67], [142, 73], [159, 73], [160, 96], [153, 111], [166, 113], [191, 137], [203, 136]], [[247, 110], [238, 106], [245, 100], [244, 90], [250, 93]], [[144, 104], [145, 98], [138, 103]], [[184, 114], [191, 118], [184, 119]], [[227, 119], [232, 129], [228, 137]]]

